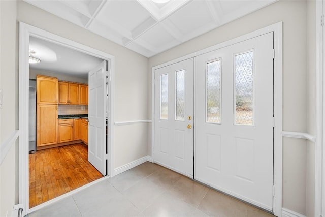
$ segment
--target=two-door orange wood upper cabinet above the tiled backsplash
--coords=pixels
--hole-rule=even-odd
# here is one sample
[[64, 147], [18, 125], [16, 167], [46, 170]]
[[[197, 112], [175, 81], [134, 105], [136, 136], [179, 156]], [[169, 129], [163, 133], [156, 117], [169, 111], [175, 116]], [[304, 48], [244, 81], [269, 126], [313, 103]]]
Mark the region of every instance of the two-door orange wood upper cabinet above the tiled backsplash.
[[59, 81], [59, 104], [79, 105], [79, 84]]

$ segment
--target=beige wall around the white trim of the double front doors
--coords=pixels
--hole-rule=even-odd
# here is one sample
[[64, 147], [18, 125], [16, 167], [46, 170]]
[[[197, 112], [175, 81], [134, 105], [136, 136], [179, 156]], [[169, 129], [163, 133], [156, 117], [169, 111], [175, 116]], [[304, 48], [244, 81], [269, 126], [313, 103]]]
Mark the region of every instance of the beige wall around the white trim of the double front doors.
[[[149, 58], [151, 68], [169, 60], [202, 50], [283, 22], [283, 130], [307, 131], [307, 3], [280, 0], [266, 8], [225, 24], [211, 32]], [[151, 114], [151, 91], [148, 110]], [[149, 129], [151, 133], [151, 129]], [[148, 153], [151, 150], [148, 149]], [[306, 140], [283, 139], [283, 207], [306, 214]], [[298, 181], [297, 181], [298, 180]]]

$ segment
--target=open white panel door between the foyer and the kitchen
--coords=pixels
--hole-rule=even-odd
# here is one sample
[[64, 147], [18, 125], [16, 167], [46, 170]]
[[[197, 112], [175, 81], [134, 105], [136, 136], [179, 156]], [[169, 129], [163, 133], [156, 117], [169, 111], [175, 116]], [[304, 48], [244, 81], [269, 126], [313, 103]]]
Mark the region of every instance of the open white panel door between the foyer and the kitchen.
[[103, 61], [88, 79], [88, 161], [103, 175], [107, 174], [106, 74], [107, 61]]

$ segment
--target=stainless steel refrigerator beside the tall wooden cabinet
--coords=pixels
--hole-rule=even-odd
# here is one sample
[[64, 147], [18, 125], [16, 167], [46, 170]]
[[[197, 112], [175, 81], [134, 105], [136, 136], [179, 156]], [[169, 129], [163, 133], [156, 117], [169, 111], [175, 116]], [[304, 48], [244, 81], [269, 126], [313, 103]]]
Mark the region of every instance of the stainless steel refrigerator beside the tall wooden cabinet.
[[29, 153], [36, 152], [36, 80], [29, 79]]

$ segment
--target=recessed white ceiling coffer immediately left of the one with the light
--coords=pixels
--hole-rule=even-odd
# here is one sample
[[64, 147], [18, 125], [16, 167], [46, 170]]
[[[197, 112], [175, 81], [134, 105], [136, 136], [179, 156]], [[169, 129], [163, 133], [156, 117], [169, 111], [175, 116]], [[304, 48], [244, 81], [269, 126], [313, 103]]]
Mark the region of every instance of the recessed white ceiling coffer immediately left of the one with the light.
[[108, 1], [95, 19], [102, 23], [113, 21], [131, 32], [149, 17], [150, 13], [137, 1]]

